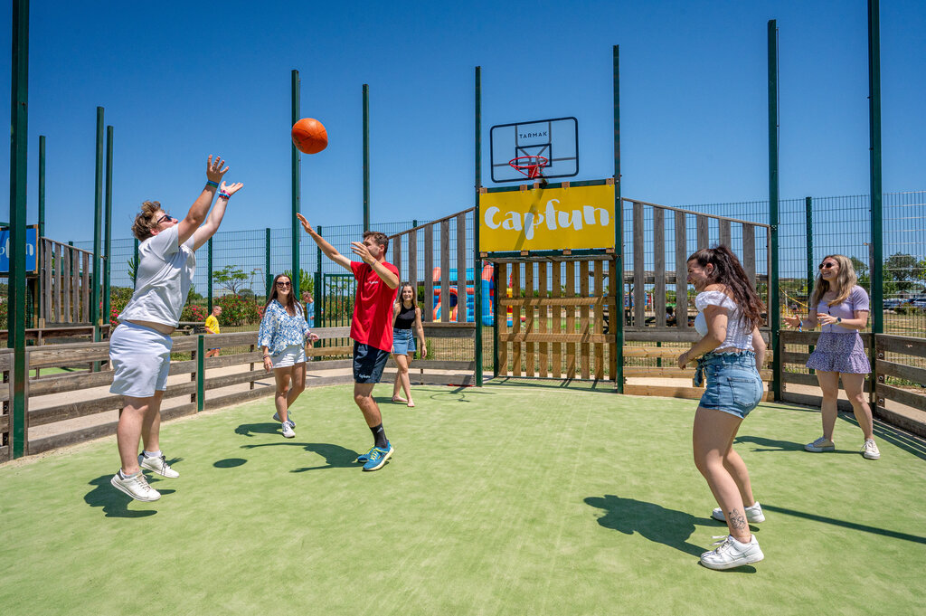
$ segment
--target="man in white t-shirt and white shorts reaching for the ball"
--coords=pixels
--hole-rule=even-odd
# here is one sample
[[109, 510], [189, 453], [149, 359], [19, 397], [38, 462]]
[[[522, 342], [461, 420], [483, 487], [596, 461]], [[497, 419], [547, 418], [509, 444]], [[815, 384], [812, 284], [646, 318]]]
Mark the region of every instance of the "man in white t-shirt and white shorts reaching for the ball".
[[[122, 466], [110, 483], [136, 500], [161, 497], [144, 479], [142, 469], [165, 477], [179, 477], [161, 453], [158, 437], [161, 398], [167, 389], [170, 368], [170, 334], [180, 322], [196, 270], [195, 251], [219, 229], [229, 198], [244, 184], [219, 182], [228, 171], [224, 161], [208, 157], [206, 187], [186, 218], [177, 220], [156, 201], [145, 201], [135, 217], [132, 233], [138, 245], [135, 293], [119, 314], [119, 327], [109, 338], [113, 366], [112, 394], [121, 394], [124, 408], [116, 435]], [[209, 212], [219, 191], [216, 207]], [[206, 218], [208, 214], [208, 218]], [[144, 449], [139, 455], [139, 440]]]

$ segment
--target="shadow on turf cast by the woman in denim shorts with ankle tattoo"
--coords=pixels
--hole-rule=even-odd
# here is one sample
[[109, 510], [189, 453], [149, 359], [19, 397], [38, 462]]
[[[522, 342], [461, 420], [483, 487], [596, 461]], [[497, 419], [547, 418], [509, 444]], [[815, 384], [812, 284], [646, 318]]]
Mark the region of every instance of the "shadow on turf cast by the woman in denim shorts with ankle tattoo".
[[[709, 518], [695, 518], [690, 513], [666, 509], [655, 503], [615, 497], [611, 494], [606, 494], [605, 497], [587, 497], [584, 502], [586, 505], [605, 510], [605, 515], [598, 518], [598, 523], [605, 528], [623, 534], [638, 533], [650, 541], [674, 547], [697, 557], [706, 552], [707, 548], [688, 543], [688, 537], [694, 533], [694, 527], [697, 525], [719, 528], [720, 524]], [[756, 568], [746, 565], [728, 571], [755, 573]]]

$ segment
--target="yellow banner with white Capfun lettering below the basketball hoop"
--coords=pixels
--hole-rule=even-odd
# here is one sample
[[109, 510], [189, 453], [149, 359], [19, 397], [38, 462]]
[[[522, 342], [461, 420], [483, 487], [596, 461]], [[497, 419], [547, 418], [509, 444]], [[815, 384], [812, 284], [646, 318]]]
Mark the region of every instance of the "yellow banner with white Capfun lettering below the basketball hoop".
[[613, 184], [483, 193], [479, 207], [482, 252], [614, 247]]

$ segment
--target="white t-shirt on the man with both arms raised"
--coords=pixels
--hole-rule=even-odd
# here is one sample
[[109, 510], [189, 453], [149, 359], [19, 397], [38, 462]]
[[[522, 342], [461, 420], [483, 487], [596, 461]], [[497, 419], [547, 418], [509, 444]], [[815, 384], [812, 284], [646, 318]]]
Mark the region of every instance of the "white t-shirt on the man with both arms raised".
[[178, 225], [138, 245], [135, 293], [119, 321], [152, 321], [177, 327], [196, 271], [194, 235], [183, 245]]

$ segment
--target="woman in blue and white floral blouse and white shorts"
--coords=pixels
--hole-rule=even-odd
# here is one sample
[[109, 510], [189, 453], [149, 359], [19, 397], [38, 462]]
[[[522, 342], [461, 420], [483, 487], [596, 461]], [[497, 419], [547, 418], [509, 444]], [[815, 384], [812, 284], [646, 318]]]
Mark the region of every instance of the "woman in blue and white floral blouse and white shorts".
[[257, 344], [264, 354], [264, 370], [273, 370], [277, 382], [273, 419], [282, 423], [283, 436], [295, 436], [295, 422], [289, 408], [306, 389], [306, 338], [315, 342], [319, 336], [309, 332], [302, 305], [295, 300], [293, 282], [286, 274], [273, 279], [270, 297], [260, 320]]

